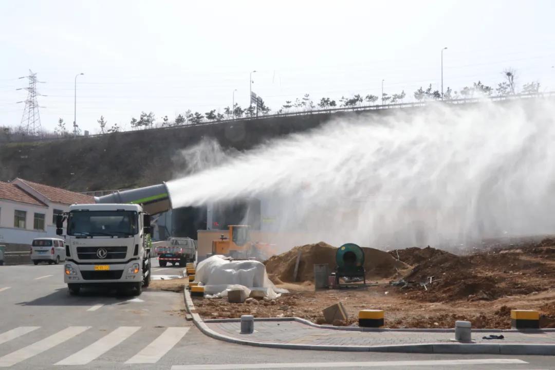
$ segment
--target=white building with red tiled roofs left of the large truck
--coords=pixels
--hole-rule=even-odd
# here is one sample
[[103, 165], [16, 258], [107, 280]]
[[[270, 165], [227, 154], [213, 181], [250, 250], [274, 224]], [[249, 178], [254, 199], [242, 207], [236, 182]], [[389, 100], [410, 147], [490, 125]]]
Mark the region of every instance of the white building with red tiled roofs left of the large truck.
[[56, 215], [94, 198], [59, 187], [15, 179], [0, 181], [0, 245], [7, 251], [31, 245], [36, 237], [56, 236]]

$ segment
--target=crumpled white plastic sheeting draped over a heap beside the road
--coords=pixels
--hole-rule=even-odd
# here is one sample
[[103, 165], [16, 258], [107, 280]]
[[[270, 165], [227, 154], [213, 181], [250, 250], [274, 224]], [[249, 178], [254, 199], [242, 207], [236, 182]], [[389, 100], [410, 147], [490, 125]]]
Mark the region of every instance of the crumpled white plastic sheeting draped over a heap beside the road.
[[196, 266], [195, 280], [204, 286], [205, 297], [226, 297], [229, 290], [263, 291], [275, 299], [287, 290], [276, 288], [268, 278], [264, 263], [254, 260], [233, 260], [222, 255], [211, 256]]

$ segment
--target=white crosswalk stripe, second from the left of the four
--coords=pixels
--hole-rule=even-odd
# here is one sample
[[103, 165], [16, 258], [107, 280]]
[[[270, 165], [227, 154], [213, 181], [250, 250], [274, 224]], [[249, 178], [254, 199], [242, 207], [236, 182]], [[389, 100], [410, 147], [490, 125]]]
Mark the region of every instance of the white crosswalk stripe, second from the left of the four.
[[42, 339], [41, 341], [30, 344], [27, 347], [18, 349], [16, 352], [8, 353], [4, 357], [0, 357], [0, 367], [11, 367], [14, 364], [36, 356], [42, 352], [48, 351], [58, 344], [73, 338], [74, 336], [89, 329], [90, 326], [70, 326], [62, 331], [52, 334], [51, 336]]

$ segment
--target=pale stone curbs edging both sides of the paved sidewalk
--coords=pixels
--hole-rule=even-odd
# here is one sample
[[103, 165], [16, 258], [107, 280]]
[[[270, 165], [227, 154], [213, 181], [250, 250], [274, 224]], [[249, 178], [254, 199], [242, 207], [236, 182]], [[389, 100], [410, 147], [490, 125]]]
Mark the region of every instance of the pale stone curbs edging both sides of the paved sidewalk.
[[[465, 354], [538, 354], [555, 356], [555, 344], [491, 344], [491, 343], [423, 343], [423, 344], [395, 344], [389, 346], [321, 346], [317, 344], [289, 344], [289, 343], [266, 343], [253, 342], [246, 339], [238, 339], [220, 334], [208, 327], [198, 313], [192, 312], [194, 308], [190, 293], [183, 289], [183, 298], [187, 312], [193, 317], [193, 322], [206, 336], [220, 341], [243, 344], [254, 347], [281, 348], [281, 349], [310, 349], [312, 351], [343, 351], [343, 352], [396, 352], [396, 353], [465, 353]], [[255, 318], [255, 321], [297, 321], [313, 327], [337, 330], [338, 327], [317, 325], [299, 317], [272, 317]], [[206, 322], [239, 322], [239, 319], [215, 319]], [[357, 327], [343, 327], [339, 330], [361, 331]], [[366, 329], [366, 328], [365, 328]], [[453, 329], [374, 329], [362, 330], [372, 332], [382, 331], [405, 331], [405, 332], [454, 332]], [[518, 330], [475, 330], [476, 332], [518, 332]], [[548, 329], [541, 331], [551, 331]], [[532, 332], [538, 332], [532, 331]]]

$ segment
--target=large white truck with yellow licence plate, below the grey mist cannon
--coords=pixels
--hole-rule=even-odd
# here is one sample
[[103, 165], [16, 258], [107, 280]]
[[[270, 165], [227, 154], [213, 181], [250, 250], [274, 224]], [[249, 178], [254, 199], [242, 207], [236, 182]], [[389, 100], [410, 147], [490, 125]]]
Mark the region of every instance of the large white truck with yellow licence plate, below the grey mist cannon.
[[109, 285], [140, 295], [150, 283], [150, 215], [139, 204], [75, 204], [56, 222], [65, 239], [64, 282]]

